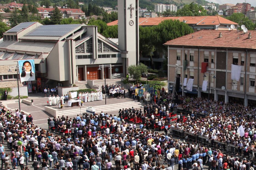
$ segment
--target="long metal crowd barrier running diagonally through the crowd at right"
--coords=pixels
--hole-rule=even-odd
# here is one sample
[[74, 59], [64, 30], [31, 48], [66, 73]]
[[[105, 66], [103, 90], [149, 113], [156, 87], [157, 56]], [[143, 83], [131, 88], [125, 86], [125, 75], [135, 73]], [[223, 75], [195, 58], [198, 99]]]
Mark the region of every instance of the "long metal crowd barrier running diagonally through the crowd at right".
[[[235, 146], [235, 145], [232, 145], [232, 144], [229, 144], [226, 142], [220, 142], [218, 140], [209, 139], [206, 136], [195, 135], [193, 133], [190, 133], [190, 132], [187, 132], [184, 130], [175, 129], [175, 128], [170, 128], [170, 130], [171, 130], [172, 134], [175, 136], [179, 136], [182, 138], [187, 137], [187, 139], [195, 140], [195, 141], [198, 141], [205, 145], [210, 145], [215, 148], [222, 148], [222, 149], [226, 150], [227, 152], [243, 154], [243, 153], [239, 152], [238, 146]], [[256, 153], [256, 151], [253, 151], [253, 153]]]

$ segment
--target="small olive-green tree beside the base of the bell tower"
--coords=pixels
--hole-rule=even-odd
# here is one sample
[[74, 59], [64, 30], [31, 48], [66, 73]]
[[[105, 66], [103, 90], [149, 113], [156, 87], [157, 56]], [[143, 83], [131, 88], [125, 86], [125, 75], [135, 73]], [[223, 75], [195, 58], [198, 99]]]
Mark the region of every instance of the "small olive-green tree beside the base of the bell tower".
[[139, 65], [131, 65], [128, 67], [128, 73], [136, 80], [136, 82], [140, 81], [141, 75], [148, 71], [146, 65], [140, 63]]

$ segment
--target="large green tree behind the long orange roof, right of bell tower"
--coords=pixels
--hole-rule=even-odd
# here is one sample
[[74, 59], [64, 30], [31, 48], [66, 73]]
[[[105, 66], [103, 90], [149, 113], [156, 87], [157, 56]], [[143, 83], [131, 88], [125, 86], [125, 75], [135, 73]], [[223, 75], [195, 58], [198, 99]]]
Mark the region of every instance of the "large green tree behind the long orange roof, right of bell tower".
[[201, 5], [198, 5], [192, 2], [191, 4], [185, 4], [183, 8], [178, 9], [176, 15], [177, 16], [206, 16], [207, 11]]

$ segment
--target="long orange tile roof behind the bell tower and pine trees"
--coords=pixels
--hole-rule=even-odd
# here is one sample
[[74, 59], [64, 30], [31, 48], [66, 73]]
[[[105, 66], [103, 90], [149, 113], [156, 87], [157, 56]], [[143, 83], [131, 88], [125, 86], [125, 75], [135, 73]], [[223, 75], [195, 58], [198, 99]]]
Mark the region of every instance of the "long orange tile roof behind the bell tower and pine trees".
[[[156, 17], [156, 18], [139, 18], [139, 25], [140, 26], [153, 26], [158, 25], [162, 21], [172, 19], [172, 20], [179, 20], [179, 21], [186, 21], [186, 24], [191, 25], [220, 25], [220, 24], [234, 24], [238, 25], [235, 22], [232, 22], [228, 19], [225, 19], [220, 16], [184, 16], [184, 17]], [[117, 25], [118, 20], [113, 22], [109, 22], [107, 25]]]

